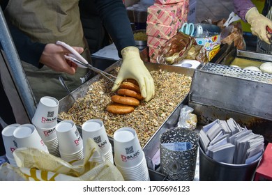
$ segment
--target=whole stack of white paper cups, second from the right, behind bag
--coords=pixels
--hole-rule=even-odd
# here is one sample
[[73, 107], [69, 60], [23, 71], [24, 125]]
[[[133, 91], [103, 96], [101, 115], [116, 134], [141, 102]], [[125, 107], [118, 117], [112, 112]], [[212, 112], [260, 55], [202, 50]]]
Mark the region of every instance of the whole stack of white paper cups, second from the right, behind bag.
[[[105, 159], [107, 159], [109, 162], [112, 162], [112, 164], [114, 163], [112, 155], [112, 144], [109, 143], [109, 138], [107, 137], [107, 132], [102, 120], [91, 119], [83, 123], [82, 138], [84, 146], [87, 139], [93, 139], [93, 141], [98, 144]], [[98, 155], [98, 153], [95, 153], [90, 158], [90, 161], [102, 162], [103, 159]]]

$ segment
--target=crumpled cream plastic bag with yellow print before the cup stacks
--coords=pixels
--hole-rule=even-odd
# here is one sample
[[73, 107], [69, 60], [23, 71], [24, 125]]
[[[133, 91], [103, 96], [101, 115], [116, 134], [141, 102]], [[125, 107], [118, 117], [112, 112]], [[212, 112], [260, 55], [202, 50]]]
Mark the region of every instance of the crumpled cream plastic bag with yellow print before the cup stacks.
[[[105, 160], [92, 139], [88, 139], [84, 150], [84, 159], [68, 163], [36, 148], [17, 148], [13, 156], [18, 167], [2, 164], [0, 180], [123, 181], [120, 171]], [[95, 153], [99, 153], [102, 162], [89, 161]]]

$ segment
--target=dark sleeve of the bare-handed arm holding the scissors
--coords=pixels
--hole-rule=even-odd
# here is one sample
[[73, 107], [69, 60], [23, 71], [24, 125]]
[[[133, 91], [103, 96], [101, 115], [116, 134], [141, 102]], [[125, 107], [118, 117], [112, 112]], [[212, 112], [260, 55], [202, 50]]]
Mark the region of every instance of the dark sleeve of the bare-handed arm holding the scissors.
[[[6, 8], [8, 1], [4, 0], [0, 2], [1, 2], [2, 10], [4, 10]], [[43, 53], [43, 49], [45, 49], [45, 44], [41, 42], [31, 41], [29, 36], [27, 36], [22, 31], [17, 29], [17, 27], [10, 24], [10, 22], [8, 22], [8, 18], [6, 18], [6, 22], [8, 24], [10, 35], [13, 38], [13, 42], [20, 56], [20, 59], [22, 61], [26, 61], [27, 63], [31, 63], [32, 65], [35, 65], [37, 68], [42, 68], [43, 65], [40, 64], [39, 61], [40, 61], [40, 56]], [[1, 44], [0, 46], [1, 46], [1, 49], [3, 49]]]

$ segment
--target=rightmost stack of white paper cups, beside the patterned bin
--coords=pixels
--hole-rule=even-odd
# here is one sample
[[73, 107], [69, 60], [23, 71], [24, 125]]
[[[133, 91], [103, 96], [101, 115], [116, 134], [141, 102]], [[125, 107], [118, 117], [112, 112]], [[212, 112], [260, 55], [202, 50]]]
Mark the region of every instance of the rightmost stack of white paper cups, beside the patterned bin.
[[126, 181], [149, 181], [144, 151], [133, 128], [114, 132], [114, 162]]

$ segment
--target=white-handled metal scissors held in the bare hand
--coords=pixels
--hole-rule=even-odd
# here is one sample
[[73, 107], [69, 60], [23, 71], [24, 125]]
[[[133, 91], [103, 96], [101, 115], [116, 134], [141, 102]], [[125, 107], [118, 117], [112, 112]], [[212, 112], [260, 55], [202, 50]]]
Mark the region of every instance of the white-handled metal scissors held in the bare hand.
[[[115, 81], [113, 80], [113, 79], [116, 79], [116, 77], [114, 77], [113, 75], [110, 75], [109, 73], [103, 70], [93, 67], [93, 65], [88, 63], [88, 61], [86, 61], [86, 59], [84, 59], [77, 51], [75, 51], [73, 47], [59, 40], [56, 41], [56, 44], [65, 47], [72, 53], [72, 54], [65, 55], [65, 58], [68, 59], [69, 61], [72, 61], [73, 63], [77, 64], [80, 68], [89, 68], [90, 70], [93, 70], [94, 72], [98, 73], [99, 75], [102, 75], [106, 79], [109, 79], [109, 81], [112, 81], [114, 84], [116, 84]], [[111, 79], [111, 77], [113, 79]]]

